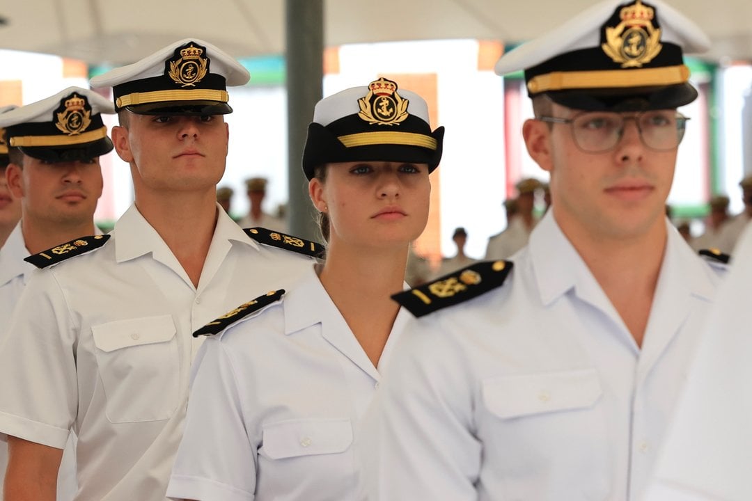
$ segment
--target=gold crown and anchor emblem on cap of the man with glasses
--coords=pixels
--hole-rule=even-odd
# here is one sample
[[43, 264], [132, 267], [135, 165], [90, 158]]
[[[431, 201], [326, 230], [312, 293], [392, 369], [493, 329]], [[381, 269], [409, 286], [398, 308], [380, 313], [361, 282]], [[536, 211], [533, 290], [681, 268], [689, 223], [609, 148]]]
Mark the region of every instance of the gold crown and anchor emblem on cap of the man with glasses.
[[653, 26], [655, 9], [637, 0], [619, 12], [621, 22], [605, 27], [606, 43], [603, 52], [622, 68], [641, 68], [663, 49], [660, 28]]

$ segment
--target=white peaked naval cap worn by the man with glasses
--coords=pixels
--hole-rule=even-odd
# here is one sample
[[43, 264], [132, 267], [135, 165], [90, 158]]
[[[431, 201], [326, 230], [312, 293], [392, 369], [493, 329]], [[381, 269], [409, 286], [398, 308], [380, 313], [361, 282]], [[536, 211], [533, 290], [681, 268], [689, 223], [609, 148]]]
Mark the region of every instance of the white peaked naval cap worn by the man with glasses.
[[605, 0], [502, 56], [529, 96], [580, 110], [666, 109], [697, 97], [684, 53], [708, 50], [695, 23], [660, 0]]

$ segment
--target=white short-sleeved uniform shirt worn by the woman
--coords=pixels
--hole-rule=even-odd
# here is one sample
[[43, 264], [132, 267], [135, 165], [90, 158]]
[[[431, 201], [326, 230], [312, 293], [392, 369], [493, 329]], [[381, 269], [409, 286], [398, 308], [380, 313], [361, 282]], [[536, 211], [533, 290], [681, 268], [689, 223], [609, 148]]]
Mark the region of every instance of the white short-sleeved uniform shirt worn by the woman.
[[[410, 317], [400, 309], [379, 370]], [[356, 428], [381, 376], [312, 269], [199, 356], [169, 496], [354, 499]]]

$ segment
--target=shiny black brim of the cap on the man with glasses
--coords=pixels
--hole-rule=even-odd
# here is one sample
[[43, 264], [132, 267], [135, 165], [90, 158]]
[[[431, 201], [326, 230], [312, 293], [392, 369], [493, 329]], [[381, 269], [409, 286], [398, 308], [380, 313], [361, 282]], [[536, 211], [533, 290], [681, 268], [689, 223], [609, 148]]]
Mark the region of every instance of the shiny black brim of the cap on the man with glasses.
[[551, 101], [575, 110], [644, 111], [671, 110], [690, 104], [697, 89], [690, 83], [624, 89], [559, 90], [545, 92]]

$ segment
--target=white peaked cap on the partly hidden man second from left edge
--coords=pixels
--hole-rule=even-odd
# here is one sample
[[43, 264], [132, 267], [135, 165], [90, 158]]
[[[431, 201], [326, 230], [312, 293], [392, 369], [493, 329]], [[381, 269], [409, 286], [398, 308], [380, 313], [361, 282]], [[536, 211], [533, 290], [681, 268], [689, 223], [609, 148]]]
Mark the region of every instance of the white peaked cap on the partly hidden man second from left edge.
[[89, 160], [112, 151], [102, 113], [112, 103], [89, 89], [68, 87], [49, 98], [0, 114], [8, 146], [39, 160]]

